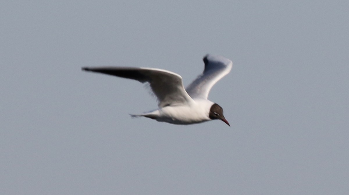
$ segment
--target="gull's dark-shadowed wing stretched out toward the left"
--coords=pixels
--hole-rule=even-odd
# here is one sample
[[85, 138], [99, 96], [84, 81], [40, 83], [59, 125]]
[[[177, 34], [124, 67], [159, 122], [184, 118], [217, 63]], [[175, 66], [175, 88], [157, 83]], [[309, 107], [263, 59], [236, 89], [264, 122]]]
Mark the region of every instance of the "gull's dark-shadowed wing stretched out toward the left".
[[159, 107], [188, 104], [192, 98], [185, 91], [182, 77], [168, 70], [130, 67], [83, 67], [83, 70], [148, 82], [159, 100]]

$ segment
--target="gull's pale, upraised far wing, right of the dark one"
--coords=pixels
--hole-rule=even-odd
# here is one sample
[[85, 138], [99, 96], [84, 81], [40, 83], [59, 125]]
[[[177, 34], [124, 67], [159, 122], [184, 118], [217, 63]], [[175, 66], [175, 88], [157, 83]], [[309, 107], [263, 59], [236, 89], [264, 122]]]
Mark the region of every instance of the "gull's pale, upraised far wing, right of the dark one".
[[203, 58], [205, 69], [187, 88], [191, 98], [207, 99], [212, 86], [223, 76], [227, 75], [233, 63], [228, 58], [207, 54]]

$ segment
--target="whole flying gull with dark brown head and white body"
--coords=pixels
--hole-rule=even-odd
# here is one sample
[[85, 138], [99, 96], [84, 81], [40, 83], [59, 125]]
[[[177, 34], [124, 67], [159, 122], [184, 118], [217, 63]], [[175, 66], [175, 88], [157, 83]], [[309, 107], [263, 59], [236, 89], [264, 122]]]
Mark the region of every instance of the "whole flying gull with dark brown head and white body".
[[82, 67], [82, 70], [147, 82], [157, 97], [158, 109], [130, 114], [132, 118], [147, 117], [177, 125], [218, 119], [229, 125], [223, 115], [223, 108], [207, 98], [213, 85], [230, 72], [233, 63], [223, 56], [211, 54], [207, 54], [203, 62], [203, 73], [187, 88], [184, 88], [180, 75], [158, 68]]

